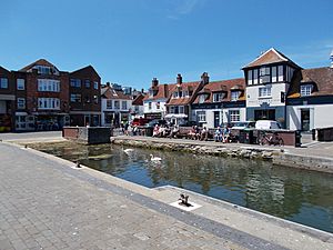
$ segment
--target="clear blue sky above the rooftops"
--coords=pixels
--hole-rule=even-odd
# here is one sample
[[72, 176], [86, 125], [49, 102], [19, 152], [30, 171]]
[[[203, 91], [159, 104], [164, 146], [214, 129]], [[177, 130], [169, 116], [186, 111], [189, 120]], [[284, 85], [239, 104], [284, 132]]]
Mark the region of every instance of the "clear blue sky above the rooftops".
[[102, 81], [242, 77], [276, 48], [303, 68], [329, 66], [332, 0], [1, 0], [0, 66], [46, 58], [60, 70], [92, 64]]

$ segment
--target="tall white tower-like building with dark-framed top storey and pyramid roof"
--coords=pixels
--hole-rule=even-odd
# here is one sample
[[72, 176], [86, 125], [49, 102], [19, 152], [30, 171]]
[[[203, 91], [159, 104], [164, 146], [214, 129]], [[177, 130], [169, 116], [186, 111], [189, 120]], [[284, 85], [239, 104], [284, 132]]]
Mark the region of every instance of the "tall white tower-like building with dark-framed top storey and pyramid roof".
[[246, 120], [276, 120], [285, 127], [285, 96], [294, 72], [299, 70], [301, 67], [274, 48], [243, 67], [246, 82]]

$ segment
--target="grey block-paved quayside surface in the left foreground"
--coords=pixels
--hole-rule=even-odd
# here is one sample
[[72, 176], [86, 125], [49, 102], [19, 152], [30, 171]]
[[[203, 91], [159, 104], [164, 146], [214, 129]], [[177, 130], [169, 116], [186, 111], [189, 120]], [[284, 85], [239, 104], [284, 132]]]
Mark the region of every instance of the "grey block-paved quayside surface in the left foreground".
[[243, 249], [68, 174], [60, 169], [68, 166], [29, 150], [0, 143], [0, 159], [1, 250]]

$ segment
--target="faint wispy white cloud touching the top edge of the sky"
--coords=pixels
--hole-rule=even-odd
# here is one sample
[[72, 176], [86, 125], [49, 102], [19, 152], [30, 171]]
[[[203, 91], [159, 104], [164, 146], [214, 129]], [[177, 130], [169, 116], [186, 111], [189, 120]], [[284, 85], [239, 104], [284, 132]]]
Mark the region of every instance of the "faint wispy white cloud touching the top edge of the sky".
[[169, 10], [167, 18], [179, 20], [180, 17], [192, 13], [196, 8], [204, 4], [205, 0], [178, 0]]

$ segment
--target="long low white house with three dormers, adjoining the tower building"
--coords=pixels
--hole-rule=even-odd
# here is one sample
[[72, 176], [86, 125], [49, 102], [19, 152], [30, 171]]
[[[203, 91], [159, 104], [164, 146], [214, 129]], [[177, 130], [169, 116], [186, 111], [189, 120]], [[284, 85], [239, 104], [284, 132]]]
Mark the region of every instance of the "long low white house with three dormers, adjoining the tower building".
[[244, 121], [244, 93], [243, 78], [208, 82], [192, 103], [192, 120], [206, 128]]

